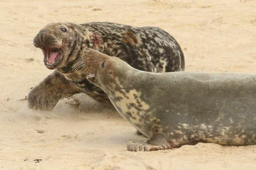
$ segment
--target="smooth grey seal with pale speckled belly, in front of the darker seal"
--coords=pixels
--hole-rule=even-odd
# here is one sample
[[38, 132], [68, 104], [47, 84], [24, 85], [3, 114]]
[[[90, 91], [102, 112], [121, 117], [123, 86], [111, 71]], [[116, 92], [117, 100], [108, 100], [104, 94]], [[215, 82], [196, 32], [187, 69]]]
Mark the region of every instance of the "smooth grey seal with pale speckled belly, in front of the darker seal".
[[92, 49], [83, 55], [87, 79], [149, 139], [128, 150], [150, 151], [198, 142], [256, 144], [256, 74], [151, 73]]

